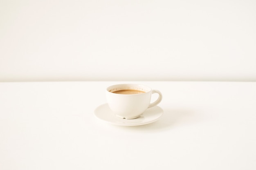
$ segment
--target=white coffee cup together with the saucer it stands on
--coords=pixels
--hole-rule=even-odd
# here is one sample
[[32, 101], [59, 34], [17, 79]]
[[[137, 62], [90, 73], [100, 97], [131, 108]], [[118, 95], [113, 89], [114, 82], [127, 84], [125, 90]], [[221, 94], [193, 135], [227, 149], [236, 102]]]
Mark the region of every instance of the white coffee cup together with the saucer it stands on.
[[[158, 93], [155, 102], [150, 103], [151, 95]], [[138, 126], [157, 121], [164, 113], [157, 106], [162, 100], [158, 90], [139, 84], [116, 84], [106, 89], [106, 104], [94, 110], [94, 116], [110, 124]]]

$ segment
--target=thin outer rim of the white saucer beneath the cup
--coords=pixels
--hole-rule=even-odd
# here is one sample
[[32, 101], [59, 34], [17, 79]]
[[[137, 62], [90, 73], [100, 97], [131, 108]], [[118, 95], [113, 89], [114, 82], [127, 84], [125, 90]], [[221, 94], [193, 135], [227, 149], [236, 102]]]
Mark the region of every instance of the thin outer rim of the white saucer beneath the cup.
[[[152, 119], [152, 120], [150, 120], [150, 121], [146, 121], [146, 122], [130, 123], [130, 124], [121, 124], [121, 123], [117, 123], [117, 122], [114, 122], [114, 121], [108, 121], [108, 120], [102, 119], [102, 118], [100, 118], [99, 116], [97, 116], [97, 114], [95, 113], [96, 110], [97, 110], [98, 108], [101, 108], [101, 107], [104, 107], [104, 106], [107, 106], [107, 105], [108, 105], [108, 103], [101, 104], [101, 105], [97, 106], [97, 107], [94, 109], [94, 117], [96, 117], [97, 119], [100, 119], [101, 121], [104, 121], [104, 122], [106, 122], [106, 123], [108, 123], [108, 124], [117, 125], [117, 126], [141, 126], [141, 125], [145, 125], [145, 124], [151, 124], [151, 123], [157, 121], [160, 117], [162, 117], [162, 115], [164, 115], [164, 110], [163, 110], [160, 106], [154, 106], [154, 107], [152, 107], [152, 108], [157, 107], [158, 109], [161, 110], [161, 111], [160, 111], [161, 113], [159, 113], [159, 114], [161, 114], [161, 115], [159, 115], [157, 118]], [[142, 115], [143, 115], [143, 114], [142, 114]], [[111, 115], [111, 116], [113, 116], [113, 115]], [[144, 115], [144, 116], [145, 116], [145, 115]], [[135, 118], [135, 119], [139, 119], [139, 118], [140, 118], [140, 117]], [[121, 118], [120, 118], [120, 119], [121, 119]], [[132, 120], [134, 120], [134, 119], [126, 119], [126, 121], [132, 121]]]

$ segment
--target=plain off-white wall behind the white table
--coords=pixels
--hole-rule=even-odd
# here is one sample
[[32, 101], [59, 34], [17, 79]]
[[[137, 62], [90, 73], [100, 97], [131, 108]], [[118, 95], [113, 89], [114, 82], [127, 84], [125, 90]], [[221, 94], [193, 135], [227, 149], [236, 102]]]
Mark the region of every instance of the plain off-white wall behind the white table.
[[0, 0], [0, 81], [256, 81], [255, 0]]

